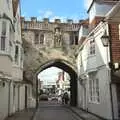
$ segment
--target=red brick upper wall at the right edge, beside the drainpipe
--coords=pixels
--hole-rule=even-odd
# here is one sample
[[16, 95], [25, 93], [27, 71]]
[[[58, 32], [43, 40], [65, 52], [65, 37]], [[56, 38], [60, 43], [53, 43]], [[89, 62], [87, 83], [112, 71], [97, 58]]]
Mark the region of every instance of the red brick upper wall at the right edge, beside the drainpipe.
[[119, 39], [119, 24], [109, 24], [110, 36], [111, 36], [111, 47], [112, 47], [112, 61], [120, 62], [120, 39]]

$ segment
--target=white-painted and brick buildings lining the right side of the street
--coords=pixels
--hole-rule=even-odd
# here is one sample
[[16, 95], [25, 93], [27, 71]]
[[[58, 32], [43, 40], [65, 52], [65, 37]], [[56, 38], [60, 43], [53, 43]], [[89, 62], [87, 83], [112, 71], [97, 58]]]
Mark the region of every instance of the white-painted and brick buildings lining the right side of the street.
[[[77, 56], [78, 106], [110, 120], [119, 119], [119, 92], [116, 91], [119, 77], [114, 71], [119, 66], [120, 44], [118, 23], [107, 21], [106, 15], [117, 3], [115, 0], [91, 2], [89, 22], [83, 23], [79, 30]], [[102, 38], [110, 38], [108, 44]]]

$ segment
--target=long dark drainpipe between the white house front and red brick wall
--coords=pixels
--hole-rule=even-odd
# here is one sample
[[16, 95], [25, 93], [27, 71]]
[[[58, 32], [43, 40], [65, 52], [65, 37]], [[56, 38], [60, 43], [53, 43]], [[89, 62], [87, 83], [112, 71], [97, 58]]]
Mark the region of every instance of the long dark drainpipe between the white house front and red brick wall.
[[[112, 65], [113, 60], [112, 60], [112, 36], [111, 36], [111, 28], [110, 24], [108, 24], [108, 31], [109, 31], [109, 36], [110, 36], [110, 41], [109, 41], [109, 52], [110, 52], [110, 64]], [[111, 68], [111, 67], [110, 67]], [[112, 96], [112, 76], [113, 76], [113, 70], [111, 68], [110, 72], [110, 99], [111, 99], [111, 108], [112, 108], [112, 120], [114, 120], [114, 105], [113, 105], [113, 96]]]

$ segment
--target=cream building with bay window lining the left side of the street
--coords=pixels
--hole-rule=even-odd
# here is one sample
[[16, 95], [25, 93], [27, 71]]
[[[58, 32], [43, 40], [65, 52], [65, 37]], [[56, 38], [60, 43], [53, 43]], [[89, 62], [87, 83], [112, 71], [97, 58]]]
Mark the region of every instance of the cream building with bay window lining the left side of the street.
[[25, 108], [23, 55], [19, 0], [1, 0], [0, 120]]

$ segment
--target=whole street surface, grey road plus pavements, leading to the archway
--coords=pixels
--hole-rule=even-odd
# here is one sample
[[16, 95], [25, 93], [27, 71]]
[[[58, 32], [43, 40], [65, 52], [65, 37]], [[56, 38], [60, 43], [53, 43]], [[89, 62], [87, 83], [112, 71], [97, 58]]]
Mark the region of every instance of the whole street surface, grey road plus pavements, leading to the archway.
[[16, 112], [5, 120], [104, 120], [80, 108], [61, 105], [55, 101], [40, 102], [35, 108]]

